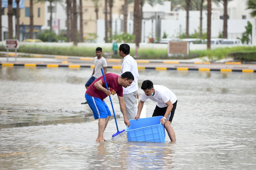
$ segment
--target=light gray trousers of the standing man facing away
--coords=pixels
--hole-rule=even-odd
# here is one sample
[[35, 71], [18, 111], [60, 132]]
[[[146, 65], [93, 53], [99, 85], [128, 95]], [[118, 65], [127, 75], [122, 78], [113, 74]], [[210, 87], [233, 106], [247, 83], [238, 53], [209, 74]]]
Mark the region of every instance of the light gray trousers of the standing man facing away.
[[124, 94], [124, 101], [125, 101], [125, 106], [126, 106], [126, 114], [128, 120], [134, 119], [137, 113], [134, 113], [134, 102], [136, 100], [137, 96], [137, 91], [129, 93], [129, 94]]

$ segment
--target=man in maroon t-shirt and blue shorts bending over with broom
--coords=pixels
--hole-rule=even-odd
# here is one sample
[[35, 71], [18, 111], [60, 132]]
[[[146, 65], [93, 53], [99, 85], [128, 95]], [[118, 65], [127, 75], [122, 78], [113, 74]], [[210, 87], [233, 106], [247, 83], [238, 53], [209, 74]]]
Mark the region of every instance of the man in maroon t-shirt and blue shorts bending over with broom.
[[105, 141], [103, 138], [104, 130], [107, 127], [111, 112], [104, 99], [107, 96], [117, 94], [121, 112], [124, 115], [124, 124], [130, 126], [127, 119], [126, 107], [123, 97], [123, 87], [126, 88], [132, 84], [134, 77], [131, 72], [126, 71], [121, 76], [113, 73], [105, 74], [108, 89], [106, 88], [103, 76], [97, 78], [86, 90], [85, 99], [92, 109], [94, 119], [99, 119], [99, 134], [96, 142]]

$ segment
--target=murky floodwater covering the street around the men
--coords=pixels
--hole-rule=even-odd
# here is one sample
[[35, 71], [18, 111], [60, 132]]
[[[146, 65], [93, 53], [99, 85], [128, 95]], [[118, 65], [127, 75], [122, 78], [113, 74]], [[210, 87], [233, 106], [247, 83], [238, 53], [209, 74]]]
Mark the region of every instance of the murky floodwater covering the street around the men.
[[[108, 69], [117, 73], [119, 69]], [[92, 69], [0, 68], [0, 123], [90, 115], [84, 84]], [[178, 98], [176, 143], [128, 142], [109, 121], [96, 143], [98, 121], [0, 129], [0, 169], [239, 169], [256, 167], [256, 74], [139, 70]], [[141, 95], [142, 90], [139, 89]], [[115, 113], [120, 114], [116, 96]], [[109, 98], [106, 103], [110, 107]], [[155, 103], [146, 101], [147, 117]], [[1, 111], [0, 110], [0, 111]], [[117, 120], [124, 129], [123, 119]]]

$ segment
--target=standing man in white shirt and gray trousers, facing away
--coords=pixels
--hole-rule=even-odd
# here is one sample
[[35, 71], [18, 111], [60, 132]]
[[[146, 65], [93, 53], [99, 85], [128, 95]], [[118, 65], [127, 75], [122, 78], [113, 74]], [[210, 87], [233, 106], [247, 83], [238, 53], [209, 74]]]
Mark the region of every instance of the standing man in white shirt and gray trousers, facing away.
[[131, 86], [123, 88], [124, 101], [126, 106], [126, 114], [128, 120], [134, 119], [137, 113], [134, 113], [134, 102], [139, 99], [138, 93], [138, 79], [139, 71], [137, 62], [130, 55], [130, 46], [128, 44], [121, 44], [119, 46], [119, 55], [123, 57], [120, 75], [126, 71], [130, 71], [134, 76]]

